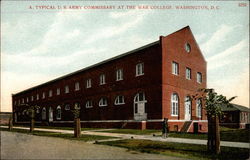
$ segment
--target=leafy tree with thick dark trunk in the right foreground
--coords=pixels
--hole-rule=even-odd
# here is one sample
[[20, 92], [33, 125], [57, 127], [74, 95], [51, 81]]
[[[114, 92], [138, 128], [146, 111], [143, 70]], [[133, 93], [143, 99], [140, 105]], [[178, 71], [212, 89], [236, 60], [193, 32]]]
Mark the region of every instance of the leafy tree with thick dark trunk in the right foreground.
[[208, 142], [209, 152], [220, 153], [220, 128], [219, 117], [222, 116], [221, 107], [230, 107], [230, 102], [236, 97], [227, 99], [223, 95], [218, 95], [214, 89], [199, 89], [198, 93], [192, 96], [192, 99], [202, 98], [205, 101], [205, 110], [208, 120]]

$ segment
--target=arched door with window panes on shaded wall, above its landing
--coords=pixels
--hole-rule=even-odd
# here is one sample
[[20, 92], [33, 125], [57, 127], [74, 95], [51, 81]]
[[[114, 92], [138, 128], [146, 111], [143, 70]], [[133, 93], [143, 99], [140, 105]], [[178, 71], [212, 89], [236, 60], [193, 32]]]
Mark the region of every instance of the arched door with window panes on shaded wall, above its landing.
[[139, 92], [134, 97], [134, 113], [143, 114], [145, 111], [146, 98], [144, 92]]

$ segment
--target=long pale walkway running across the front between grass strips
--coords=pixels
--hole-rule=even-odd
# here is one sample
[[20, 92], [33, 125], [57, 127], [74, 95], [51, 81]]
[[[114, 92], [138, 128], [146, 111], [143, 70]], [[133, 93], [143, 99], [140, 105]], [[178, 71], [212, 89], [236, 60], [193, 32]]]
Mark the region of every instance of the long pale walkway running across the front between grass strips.
[[[19, 129], [29, 129], [27, 127], [14, 127]], [[36, 131], [47, 131], [47, 132], [58, 132], [58, 133], [69, 133], [73, 134], [74, 131], [72, 130], [59, 130], [59, 129], [45, 129], [45, 128], [35, 128]], [[201, 144], [206, 145], [207, 140], [201, 139], [187, 139], [187, 138], [171, 138], [168, 137], [166, 139], [162, 137], [155, 137], [152, 135], [134, 135], [134, 134], [121, 134], [121, 133], [107, 133], [107, 132], [96, 132], [97, 130], [89, 130], [89, 131], [82, 131], [82, 134], [86, 135], [99, 135], [99, 136], [112, 136], [117, 137], [118, 139], [143, 139], [143, 140], [151, 140], [151, 141], [161, 141], [161, 142], [176, 142], [176, 143], [188, 143], [188, 144]], [[229, 142], [229, 141], [221, 141], [221, 146], [226, 147], [236, 147], [236, 148], [250, 148], [249, 143], [244, 142]]]

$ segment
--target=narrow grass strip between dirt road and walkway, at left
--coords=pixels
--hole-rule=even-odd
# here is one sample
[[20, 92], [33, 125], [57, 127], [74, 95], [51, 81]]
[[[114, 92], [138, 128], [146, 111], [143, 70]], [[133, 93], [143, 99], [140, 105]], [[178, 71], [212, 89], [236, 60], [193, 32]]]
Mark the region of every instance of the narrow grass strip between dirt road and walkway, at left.
[[[9, 131], [7, 128], [0, 128], [0, 131]], [[70, 140], [80, 140], [80, 141], [96, 141], [102, 139], [111, 139], [115, 137], [109, 136], [96, 136], [96, 135], [81, 135], [80, 138], [75, 138], [73, 134], [64, 134], [64, 133], [56, 133], [56, 132], [45, 132], [45, 131], [33, 131], [30, 133], [29, 130], [24, 129], [12, 129], [10, 132], [19, 132], [36, 136], [48, 136], [48, 137], [58, 137]]]

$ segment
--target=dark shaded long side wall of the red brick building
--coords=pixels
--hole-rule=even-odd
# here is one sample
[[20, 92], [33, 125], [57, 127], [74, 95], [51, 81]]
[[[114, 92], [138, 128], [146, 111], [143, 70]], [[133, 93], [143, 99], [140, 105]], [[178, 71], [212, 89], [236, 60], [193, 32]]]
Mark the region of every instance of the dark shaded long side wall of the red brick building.
[[[136, 64], [144, 63], [144, 75], [135, 76]], [[159, 44], [155, 44], [136, 53], [127, 55], [123, 58], [112, 60], [108, 63], [90, 68], [81, 73], [65, 77], [61, 80], [34, 88], [31, 91], [23, 92], [13, 96], [14, 101], [29, 97], [30, 105], [39, 105], [47, 107], [47, 118], [49, 107], [54, 110], [54, 120], [56, 120], [56, 107], [62, 107], [62, 119], [72, 120], [70, 111], [64, 110], [64, 105], [69, 103], [73, 109], [76, 102], [81, 104], [81, 120], [126, 120], [133, 119], [133, 101], [134, 96], [142, 91], [145, 92], [147, 104], [146, 109], [149, 119], [161, 118], [161, 49]], [[116, 69], [123, 69], [123, 80], [116, 81]], [[106, 75], [106, 84], [99, 85], [99, 76]], [[85, 88], [86, 80], [92, 79], [92, 87]], [[80, 90], [74, 91], [75, 82], [80, 83]], [[69, 85], [69, 93], [64, 93], [64, 87]], [[61, 89], [61, 94], [56, 95], [56, 89]], [[53, 90], [53, 96], [48, 97], [49, 90]], [[46, 98], [42, 99], [42, 93], [46, 93]], [[36, 94], [39, 94], [39, 100], [36, 100]], [[31, 102], [30, 97], [34, 96]], [[114, 105], [117, 95], [124, 95], [125, 105]], [[98, 103], [101, 97], [108, 98], [107, 107], [99, 107]], [[88, 99], [93, 100], [93, 108], [85, 108]], [[22, 110], [22, 107], [15, 106], [13, 111]], [[19, 119], [26, 120], [25, 117]], [[37, 120], [41, 120], [41, 111]]]

